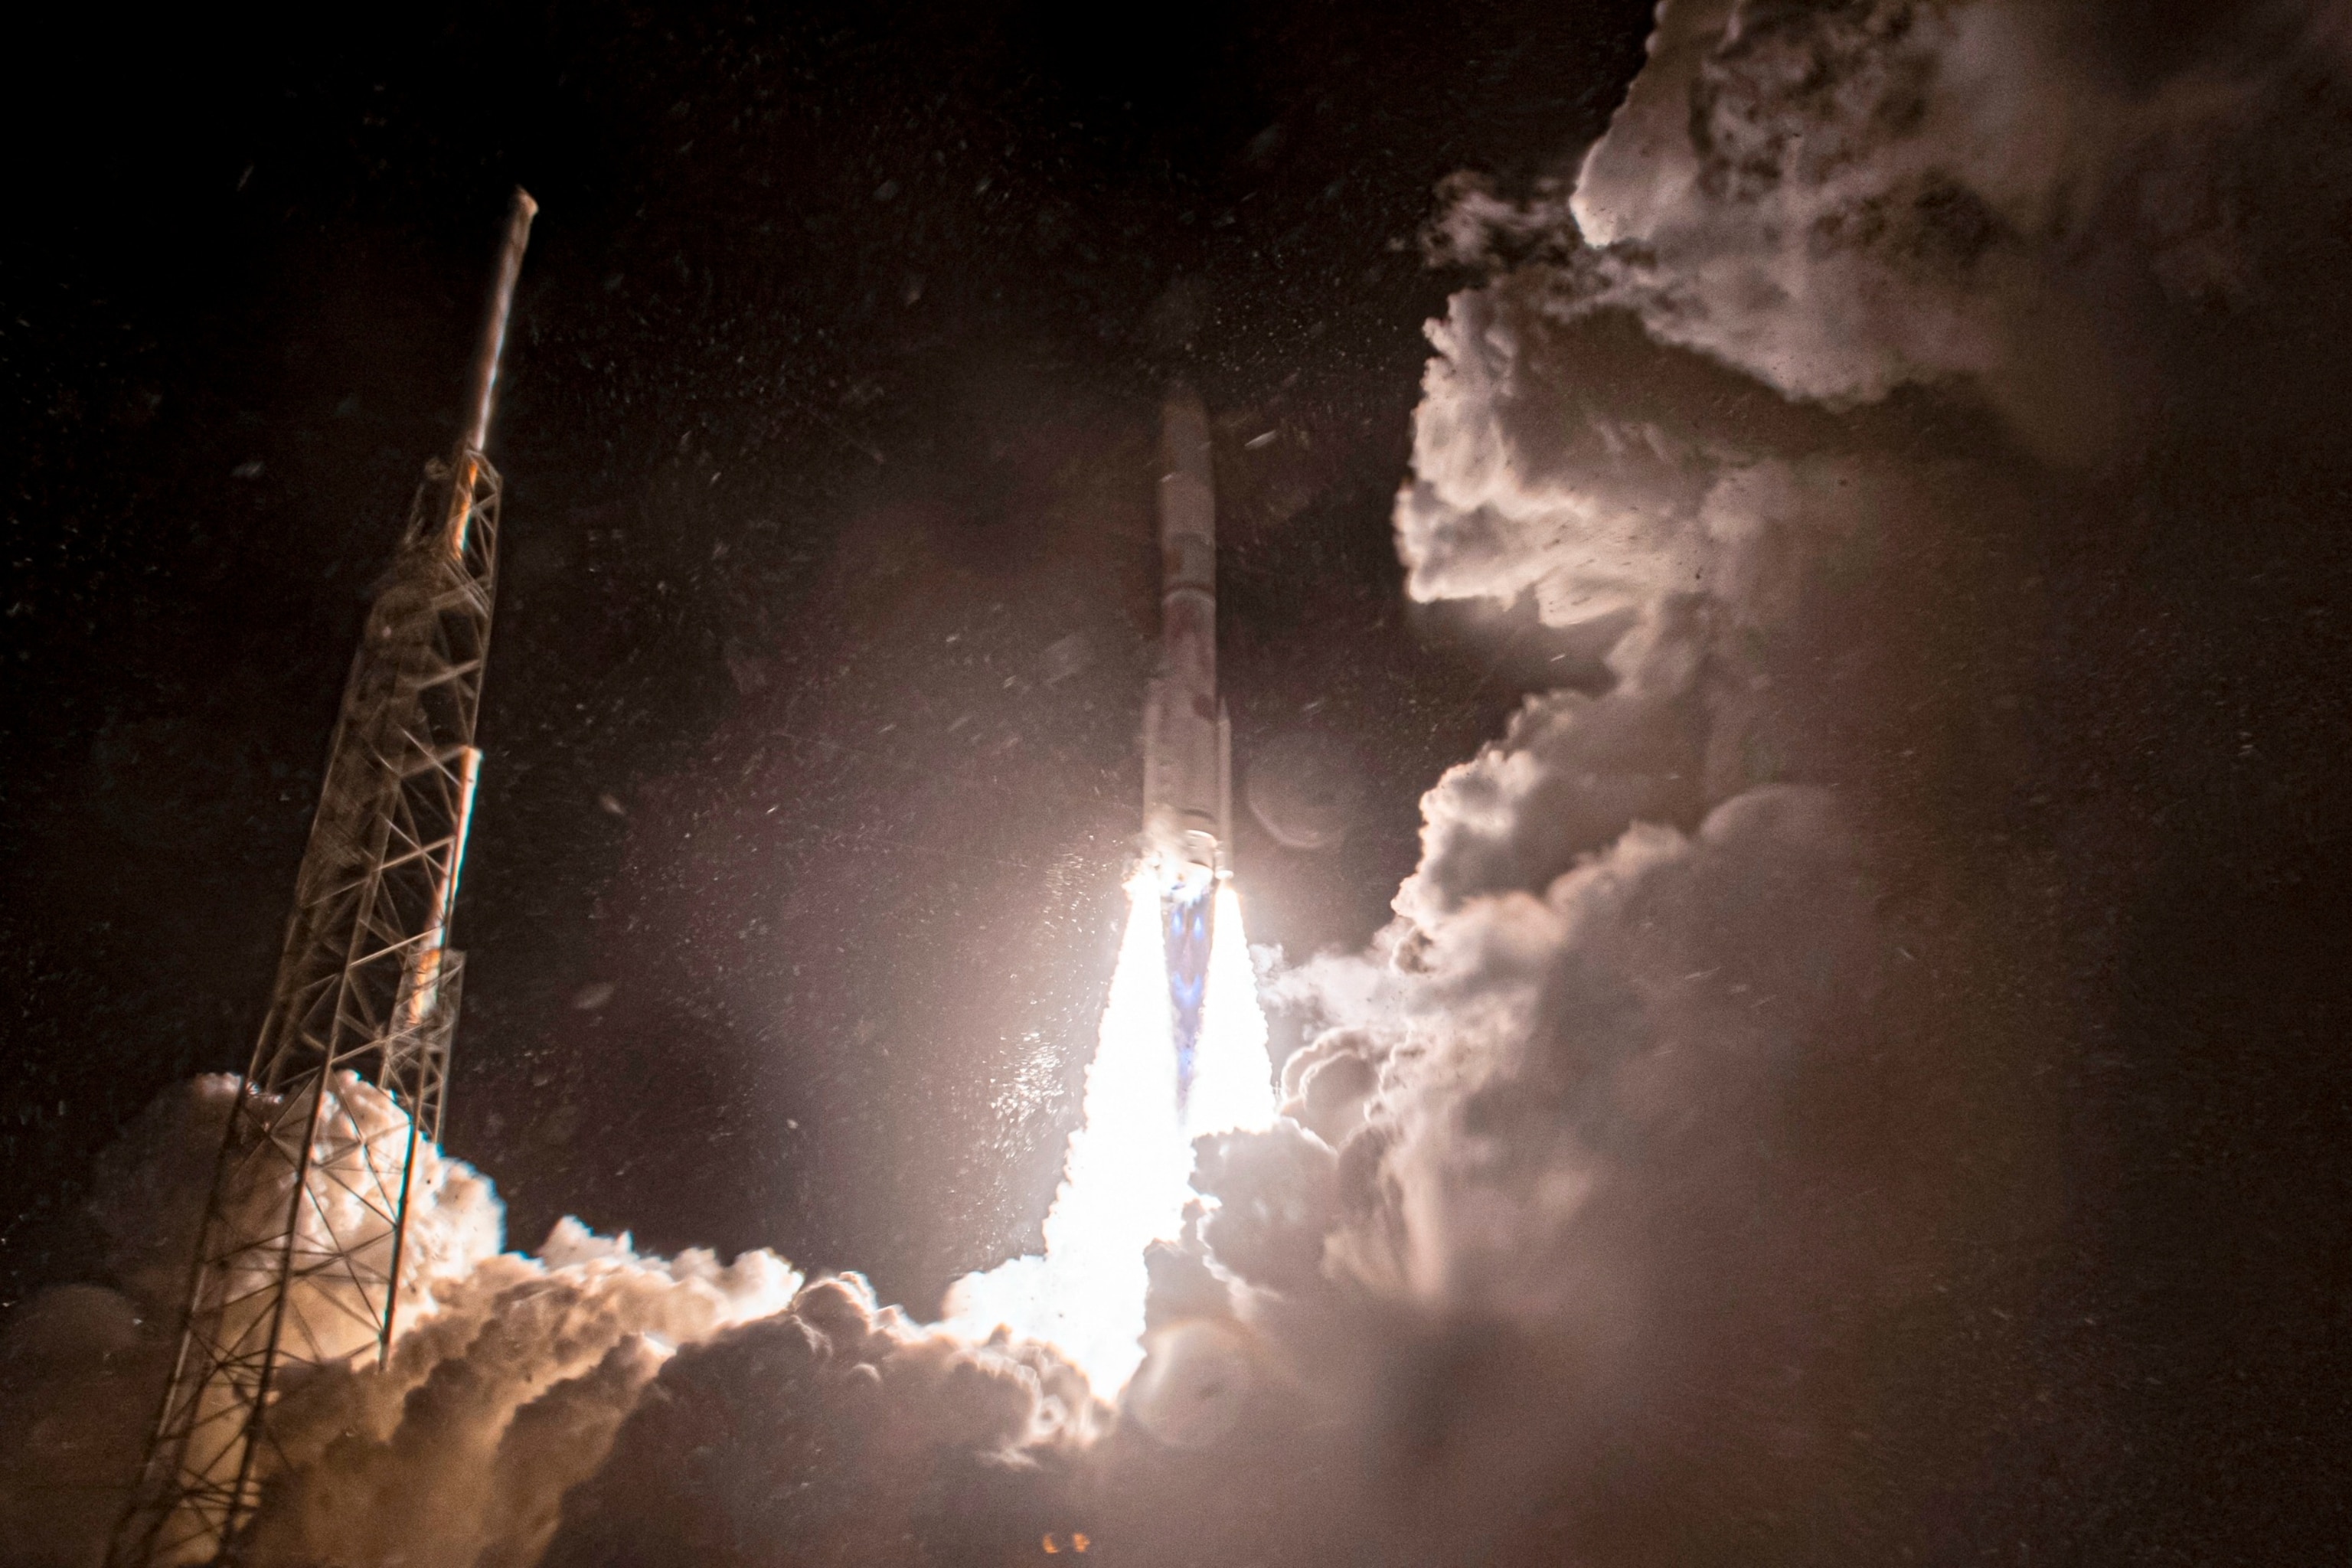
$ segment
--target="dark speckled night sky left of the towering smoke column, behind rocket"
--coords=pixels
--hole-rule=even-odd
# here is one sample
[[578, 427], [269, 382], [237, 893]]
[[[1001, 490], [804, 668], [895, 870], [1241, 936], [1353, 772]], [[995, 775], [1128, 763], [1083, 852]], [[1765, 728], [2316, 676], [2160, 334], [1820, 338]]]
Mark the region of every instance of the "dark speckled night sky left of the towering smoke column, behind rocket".
[[1298, 731], [1367, 780], [1338, 851], [1244, 823], [1258, 940], [1359, 943], [1418, 792], [1592, 675], [1409, 611], [1385, 522], [1430, 190], [1597, 134], [1646, 7], [1588, 12], [56, 24], [0, 249], [0, 1298], [89, 1267], [148, 1095], [242, 1063], [515, 181], [449, 1147], [520, 1244], [576, 1211], [917, 1302], [1016, 1251], [1134, 832], [1164, 378], [1218, 418], [1242, 783]]

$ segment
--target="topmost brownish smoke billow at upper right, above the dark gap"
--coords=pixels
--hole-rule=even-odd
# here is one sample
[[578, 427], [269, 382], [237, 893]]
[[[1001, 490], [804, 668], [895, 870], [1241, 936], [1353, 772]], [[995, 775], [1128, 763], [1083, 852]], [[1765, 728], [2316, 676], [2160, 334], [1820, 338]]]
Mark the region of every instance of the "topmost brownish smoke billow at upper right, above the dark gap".
[[2336, 5], [2246, 7], [2133, 80], [2098, 47], [2133, 21], [2103, 9], [1663, 5], [1576, 181], [1583, 289], [1790, 397], [1964, 378], [2034, 451], [2103, 456], [2145, 371], [2117, 296], [2251, 287], [2232, 143], [2343, 33]]

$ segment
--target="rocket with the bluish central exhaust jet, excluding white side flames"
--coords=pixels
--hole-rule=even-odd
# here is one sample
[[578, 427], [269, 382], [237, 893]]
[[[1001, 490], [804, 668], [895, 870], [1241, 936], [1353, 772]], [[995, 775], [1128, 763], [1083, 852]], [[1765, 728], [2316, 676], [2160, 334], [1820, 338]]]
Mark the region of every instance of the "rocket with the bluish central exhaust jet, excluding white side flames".
[[1230, 875], [1232, 722], [1216, 696], [1216, 484], [1209, 409], [1160, 407], [1160, 672], [1143, 703], [1143, 846], [1160, 865], [1178, 1100], [1209, 980], [1216, 884]]

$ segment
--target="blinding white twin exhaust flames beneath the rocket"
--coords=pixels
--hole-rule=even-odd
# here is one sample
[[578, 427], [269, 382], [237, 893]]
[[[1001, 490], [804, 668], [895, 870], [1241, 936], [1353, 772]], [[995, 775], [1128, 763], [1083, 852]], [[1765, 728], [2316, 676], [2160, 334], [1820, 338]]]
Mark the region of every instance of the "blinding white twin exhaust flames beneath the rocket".
[[1183, 1227], [1195, 1197], [1190, 1140], [1275, 1119], [1265, 1013], [1230, 886], [1216, 896], [1192, 1093], [1178, 1114], [1162, 886], [1150, 865], [1127, 882], [1127, 936], [1087, 1067], [1084, 1121], [1044, 1218], [1044, 1253], [967, 1274], [946, 1302], [948, 1326], [971, 1338], [1002, 1324], [1056, 1345], [1103, 1396], [1117, 1396], [1143, 1361], [1143, 1248]]

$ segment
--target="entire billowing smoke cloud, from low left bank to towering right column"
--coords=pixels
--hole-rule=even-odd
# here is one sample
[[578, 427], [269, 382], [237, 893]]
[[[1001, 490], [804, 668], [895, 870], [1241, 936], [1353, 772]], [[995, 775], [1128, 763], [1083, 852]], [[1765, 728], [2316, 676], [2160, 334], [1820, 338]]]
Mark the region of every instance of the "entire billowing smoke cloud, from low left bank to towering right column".
[[[2122, 1441], [2034, 1331], [2039, 1072], [2098, 940], [2072, 851], [2011, 827], [2070, 635], [2037, 562], [2107, 527], [2178, 320], [2260, 299], [2256, 148], [2340, 103], [2352, 33], [2253, 5], [2159, 68], [2107, 26], [1670, 0], [1573, 188], [1449, 188], [1432, 252], [1479, 275], [1430, 327], [1406, 588], [1606, 628], [1616, 679], [1430, 790], [1371, 952], [1270, 983], [1310, 1037], [1284, 1117], [1202, 1143], [1117, 1413], [851, 1279], [560, 1229], [289, 1399], [254, 1561], [1973, 1561], [2049, 1526], [2013, 1514]], [[31, 1486], [127, 1469], [113, 1406], [153, 1399], [195, 1182], [151, 1145], [106, 1199], [122, 1291], [7, 1340], [24, 1561], [89, 1561]]]

